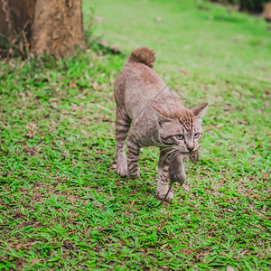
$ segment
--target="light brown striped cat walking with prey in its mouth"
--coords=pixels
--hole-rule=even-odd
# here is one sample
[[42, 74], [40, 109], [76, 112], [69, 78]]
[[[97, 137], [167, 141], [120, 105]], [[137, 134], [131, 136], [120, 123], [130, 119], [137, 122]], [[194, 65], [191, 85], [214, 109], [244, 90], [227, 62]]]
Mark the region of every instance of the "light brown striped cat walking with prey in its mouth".
[[[184, 162], [191, 155], [198, 159], [202, 137], [201, 117], [208, 104], [192, 110], [183, 106], [153, 70], [154, 51], [141, 47], [132, 51], [115, 82], [117, 174], [128, 179], [139, 177], [138, 158], [144, 146], [160, 148], [157, 196], [164, 199], [168, 190], [171, 155], [182, 154], [179, 176], [186, 179]], [[127, 157], [125, 145], [127, 139]], [[194, 163], [196, 161], [193, 161]], [[166, 200], [173, 200], [169, 192]]]

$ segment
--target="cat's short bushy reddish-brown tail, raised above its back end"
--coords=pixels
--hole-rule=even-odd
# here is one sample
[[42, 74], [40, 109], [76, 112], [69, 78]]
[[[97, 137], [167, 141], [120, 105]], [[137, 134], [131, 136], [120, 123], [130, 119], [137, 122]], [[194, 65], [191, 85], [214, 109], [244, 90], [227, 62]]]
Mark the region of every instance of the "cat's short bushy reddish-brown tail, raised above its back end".
[[153, 69], [154, 61], [155, 61], [154, 51], [147, 47], [140, 47], [135, 49], [135, 51], [131, 52], [127, 62], [142, 63]]

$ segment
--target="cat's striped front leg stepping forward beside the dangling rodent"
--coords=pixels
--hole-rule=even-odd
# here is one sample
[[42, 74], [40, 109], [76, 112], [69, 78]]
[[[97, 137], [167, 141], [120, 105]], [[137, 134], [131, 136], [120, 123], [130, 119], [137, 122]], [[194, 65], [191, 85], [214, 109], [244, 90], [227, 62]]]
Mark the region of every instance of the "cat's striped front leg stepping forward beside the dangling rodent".
[[[164, 199], [166, 192], [168, 191], [169, 173], [168, 167], [170, 160], [167, 158], [167, 154], [161, 150], [158, 162], [158, 182], [157, 182], [157, 196], [160, 200]], [[169, 192], [166, 200], [173, 200], [173, 192]]]

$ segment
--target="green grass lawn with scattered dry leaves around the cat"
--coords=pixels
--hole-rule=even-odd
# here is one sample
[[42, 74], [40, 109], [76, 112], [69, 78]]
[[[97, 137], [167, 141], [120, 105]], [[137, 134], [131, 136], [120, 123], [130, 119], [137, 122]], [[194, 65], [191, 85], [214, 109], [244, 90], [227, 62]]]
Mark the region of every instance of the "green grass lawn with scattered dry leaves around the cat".
[[[123, 55], [1, 61], [0, 270], [270, 270], [270, 26], [201, 1], [103, 0], [84, 2], [86, 28], [93, 9]], [[157, 150], [135, 181], [114, 154], [114, 80], [141, 45], [187, 107], [210, 103], [191, 191], [157, 210]]]

